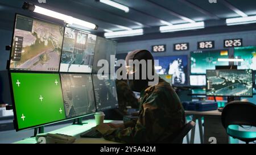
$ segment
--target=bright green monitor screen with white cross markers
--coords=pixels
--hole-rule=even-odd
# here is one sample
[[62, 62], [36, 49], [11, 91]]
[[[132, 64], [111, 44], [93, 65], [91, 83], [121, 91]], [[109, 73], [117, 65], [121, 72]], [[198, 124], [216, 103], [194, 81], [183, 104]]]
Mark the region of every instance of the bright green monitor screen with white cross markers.
[[66, 118], [59, 74], [10, 74], [16, 131]]

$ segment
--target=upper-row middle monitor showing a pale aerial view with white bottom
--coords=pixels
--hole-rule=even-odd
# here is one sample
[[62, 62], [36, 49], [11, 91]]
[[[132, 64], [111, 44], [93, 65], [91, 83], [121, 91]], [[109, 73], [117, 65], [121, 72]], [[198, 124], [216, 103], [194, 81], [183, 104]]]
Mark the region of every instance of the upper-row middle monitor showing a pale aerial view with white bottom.
[[60, 72], [92, 73], [96, 35], [65, 28]]

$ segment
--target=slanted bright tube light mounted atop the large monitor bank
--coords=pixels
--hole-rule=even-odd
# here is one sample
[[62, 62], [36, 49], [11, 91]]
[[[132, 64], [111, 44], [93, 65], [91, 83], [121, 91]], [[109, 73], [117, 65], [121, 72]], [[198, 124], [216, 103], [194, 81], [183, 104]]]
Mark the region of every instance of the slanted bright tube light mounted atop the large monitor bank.
[[97, 28], [98, 28], [98, 26], [96, 24], [85, 22], [84, 20], [73, 18], [72, 16], [69, 16], [69, 15], [60, 14], [59, 12], [44, 9], [43, 7], [36, 6], [32, 3], [24, 2], [22, 8], [30, 10], [30, 11], [34, 11], [38, 14], [43, 14], [46, 16], [51, 16], [52, 18], [63, 20], [67, 24], [71, 24], [71, 25], [75, 24], [75, 25], [78, 25], [81, 27], [86, 27], [86, 28], [90, 28], [90, 29], [94, 29], [94, 30], [97, 30]]

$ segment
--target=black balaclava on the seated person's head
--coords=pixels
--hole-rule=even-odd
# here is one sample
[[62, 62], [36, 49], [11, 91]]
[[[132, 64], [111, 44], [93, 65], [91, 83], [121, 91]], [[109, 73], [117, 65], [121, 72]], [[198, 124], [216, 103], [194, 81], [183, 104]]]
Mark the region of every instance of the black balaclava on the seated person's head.
[[[126, 58], [125, 58], [125, 61], [126, 61], [126, 64], [128, 65], [129, 64], [129, 60], [138, 60], [138, 61], [141, 61], [141, 60], [152, 60], [153, 64], [152, 64], [152, 67], [151, 67], [151, 70], [152, 70], [152, 73], [154, 74], [155, 73], [155, 69], [154, 69], [154, 57], [151, 55], [151, 53], [147, 50], [135, 50], [133, 52], [130, 52]], [[146, 66], [146, 68], [143, 68], [147, 70], [147, 68], [150, 67], [150, 66]], [[134, 79], [128, 79], [128, 85], [130, 87], [131, 90], [133, 91], [137, 91], [137, 92], [141, 92], [143, 90], [145, 90], [147, 87], [148, 87], [148, 81], [151, 81], [148, 79], [148, 77], [146, 79], [142, 79], [142, 66], [140, 65], [139, 66], [139, 79], [135, 79], [135, 73], [133, 74], [133, 77]], [[147, 73], [147, 71], [146, 71]]]

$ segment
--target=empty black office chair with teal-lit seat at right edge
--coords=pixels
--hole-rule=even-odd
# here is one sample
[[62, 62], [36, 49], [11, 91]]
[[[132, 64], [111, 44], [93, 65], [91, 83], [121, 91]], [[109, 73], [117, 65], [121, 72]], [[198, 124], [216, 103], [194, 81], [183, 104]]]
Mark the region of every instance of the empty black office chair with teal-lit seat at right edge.
[[256, 133], [238, 131], [233, 127], [249, 125], [256, 127], [256, 105], [250, 102], [233, 101], [228, 103], [221, 114], [222, 125], [226, 133], [234, 139], [244, 141], [246, 144], [256, 140]]

